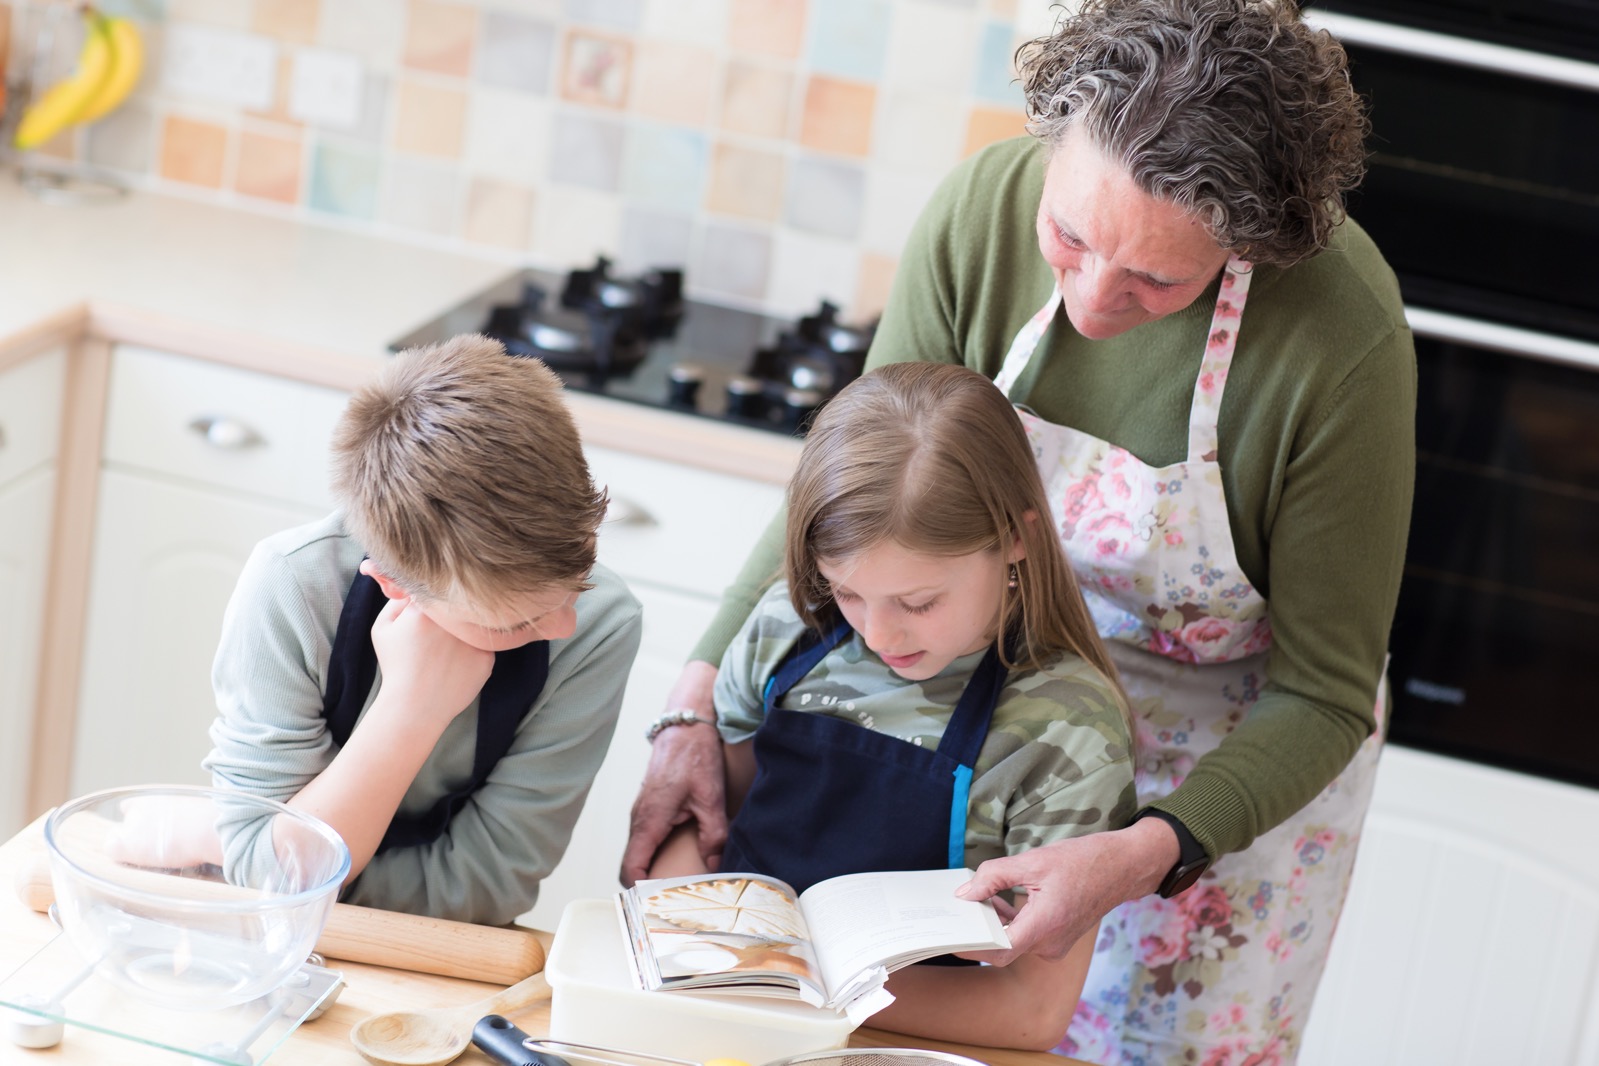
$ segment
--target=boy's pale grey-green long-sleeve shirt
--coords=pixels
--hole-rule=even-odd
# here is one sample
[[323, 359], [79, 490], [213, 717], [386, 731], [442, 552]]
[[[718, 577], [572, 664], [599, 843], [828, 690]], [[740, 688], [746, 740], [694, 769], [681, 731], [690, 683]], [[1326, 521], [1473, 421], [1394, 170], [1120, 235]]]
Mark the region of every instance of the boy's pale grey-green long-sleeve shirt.
[[[333, 762], [323, 690], [363, 555], [337, 515], [256, 545], [222, 619], [211, 671], [217, 718], [205, 766], [219, 788], [288, 801]], [[604, 759], [638, 652], [638, 601], [601, 566], [588, 580], [593, 588], [577, 598], [577, 630], [550, 641], [544, 690], [483, 788], [437, 841], [376, 855], [341, 900], [491, 925], [537, 901]], [[381, 684], [379, 671], [366, 706]], [[400, 813], [421, 815], [472, 780], [477, 734], [473, 702], [445, 729]]]

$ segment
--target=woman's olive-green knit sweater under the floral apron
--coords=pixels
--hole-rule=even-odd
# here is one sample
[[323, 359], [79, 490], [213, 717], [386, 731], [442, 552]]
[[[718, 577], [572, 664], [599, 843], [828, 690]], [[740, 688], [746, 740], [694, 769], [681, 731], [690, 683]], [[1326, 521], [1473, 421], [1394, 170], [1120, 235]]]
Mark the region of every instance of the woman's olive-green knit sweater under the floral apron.
[[[1031, 139], [964, 161], [934, 193], [894, 278], [868, 366], [964, 363], [990, 377], [1054, 286], [1033, 219]], [[1038, 416], [1145, 463], [1188, 444], [1212, 284], [1110, 340], [1057, 315], [1017, 384]], [[1415, 350], [1393, 272], [1345, 222], [1327, 251], [1257, 267], [1220, 414], [1218, 460], [1239, 564], [1271, 607], [1268, 682], [1247, 719], [1156, 805], [1215, 857], [1310, 802], [1372, 732], [1415, 475]], [[728, 590], [694, 658], [721, 662], [782, 563], [782, 516]]]

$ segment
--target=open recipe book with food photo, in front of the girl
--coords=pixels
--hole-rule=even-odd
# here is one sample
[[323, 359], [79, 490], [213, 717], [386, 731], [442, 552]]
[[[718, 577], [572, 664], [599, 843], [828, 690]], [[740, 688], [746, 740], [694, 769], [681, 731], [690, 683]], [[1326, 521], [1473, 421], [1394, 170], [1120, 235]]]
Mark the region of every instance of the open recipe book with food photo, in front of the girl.
[[758, 874], [640, 881], [617, 895], [644, 991], [790, 996], [857, 1024], [887, 975], [956, 951], [1009, 948], [991, 903], [955, 898], [967, 869], [844, 874], [796, 895]]

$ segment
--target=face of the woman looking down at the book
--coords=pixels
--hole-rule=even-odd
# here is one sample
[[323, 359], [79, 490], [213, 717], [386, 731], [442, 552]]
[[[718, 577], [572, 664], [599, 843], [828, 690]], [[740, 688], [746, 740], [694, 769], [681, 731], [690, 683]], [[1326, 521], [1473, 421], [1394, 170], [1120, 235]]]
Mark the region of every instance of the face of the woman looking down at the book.
[[1094, 340], [1188, 307], [1228, 257], [1199, 222], [1138, 189], [1081, 128], [1067, 131], [1044, 171], [1038, 249], [1071, 324]]

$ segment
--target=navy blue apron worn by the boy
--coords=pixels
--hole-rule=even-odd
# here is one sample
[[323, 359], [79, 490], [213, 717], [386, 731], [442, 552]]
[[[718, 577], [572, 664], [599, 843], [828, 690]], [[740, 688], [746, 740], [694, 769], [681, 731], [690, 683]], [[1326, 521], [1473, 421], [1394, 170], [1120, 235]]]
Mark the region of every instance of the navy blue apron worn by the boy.
[[[333, 634], [333, 657], [328, 660], [328, 690], [323, 695], [321, 716], [328, 732], [341, 748], [349, 743], [355, 722], [366, 706], [366, 697], [377, 678], [377, 650], [373, 649], [373, 623], [382, 614], [389, 598], [376, 580], [357, 574], [350, 595], [344, 598], [339, 612], [339, 628]], [[478, 743], [472, 754], [472, 780], [457, 791], [441, 796], [430, 810], [417, 817], [395, 815], [384, 833], [377, 853], [390, 847], [414, 847], [437, 841], [449, 820], [456, 817], [483, 788], [505, 753], [516, 740], [516, 727], [532, 702], [544, 692], [550, 676], [550, 642], [534, 641], [494, 654], [494, 670], [483, 692], [478, 694]]]

